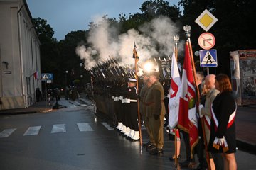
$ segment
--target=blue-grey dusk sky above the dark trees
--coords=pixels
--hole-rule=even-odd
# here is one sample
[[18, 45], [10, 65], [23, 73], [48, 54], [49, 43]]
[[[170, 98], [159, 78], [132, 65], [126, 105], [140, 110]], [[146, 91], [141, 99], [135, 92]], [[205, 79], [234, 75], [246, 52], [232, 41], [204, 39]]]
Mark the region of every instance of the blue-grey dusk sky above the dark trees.
[[[120, 13], [141, 13], [139, 8], [144, 0], [26, 0], [33, 18], [42, 18], [54, 30], [54, 38], [63, 40], [75, 30], [87, 30], [91, 21], [107, 15], [118, 18]], [[169, 0], [177, 5], [178, 0]]]

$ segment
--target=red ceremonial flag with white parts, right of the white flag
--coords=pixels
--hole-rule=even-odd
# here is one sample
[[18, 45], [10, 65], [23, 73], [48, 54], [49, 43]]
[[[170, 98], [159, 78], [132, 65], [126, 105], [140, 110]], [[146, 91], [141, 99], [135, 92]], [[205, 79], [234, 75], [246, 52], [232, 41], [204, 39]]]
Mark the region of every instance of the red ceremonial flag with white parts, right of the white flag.
[[198, 142], [198, 118], [196, 116], [196, 89], [193, 81], [191, 57], [188, 43], [185, 46], [185, 58], [181, 80], [181, 97], [178, 110], [178, 127], [189, 133], [191, 153]]

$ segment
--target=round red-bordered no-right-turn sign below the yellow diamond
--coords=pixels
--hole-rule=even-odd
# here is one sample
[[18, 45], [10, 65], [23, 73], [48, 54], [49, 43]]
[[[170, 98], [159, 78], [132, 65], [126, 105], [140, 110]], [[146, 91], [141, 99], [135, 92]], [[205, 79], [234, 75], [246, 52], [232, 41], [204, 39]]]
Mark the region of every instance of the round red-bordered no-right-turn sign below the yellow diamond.
[[204, 50], [209, 50], [215, 45], [215, 37], [211, 33], [202, 33], [198, 38], [198, 44]]

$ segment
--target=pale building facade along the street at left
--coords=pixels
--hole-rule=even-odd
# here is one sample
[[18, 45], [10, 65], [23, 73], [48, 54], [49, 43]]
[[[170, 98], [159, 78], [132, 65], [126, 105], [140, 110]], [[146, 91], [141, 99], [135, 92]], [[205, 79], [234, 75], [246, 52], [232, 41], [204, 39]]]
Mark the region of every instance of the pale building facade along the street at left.
[[40, 41], [26, 0], [0, 0], [0, 109], [27, 108], [41, 89]]

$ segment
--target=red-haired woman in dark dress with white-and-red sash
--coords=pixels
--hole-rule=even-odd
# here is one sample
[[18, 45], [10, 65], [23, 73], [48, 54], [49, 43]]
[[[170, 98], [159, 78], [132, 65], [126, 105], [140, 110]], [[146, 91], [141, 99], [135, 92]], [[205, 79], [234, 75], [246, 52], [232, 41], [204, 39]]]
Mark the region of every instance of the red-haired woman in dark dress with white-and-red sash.
[[[209, 149], [222, 153], [224, 169], [237, 169], [235, 161], [235, 113], [236, 104], [232, 96], [231, 84], [226, 74], [215, 77], [215, 88], [220, 91], [213, 101], [210, 123]], [[218, 164], [218, 162], [215, 162]]]

